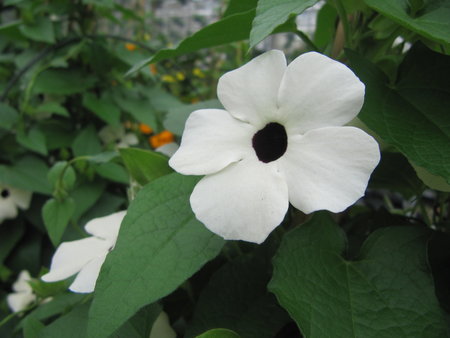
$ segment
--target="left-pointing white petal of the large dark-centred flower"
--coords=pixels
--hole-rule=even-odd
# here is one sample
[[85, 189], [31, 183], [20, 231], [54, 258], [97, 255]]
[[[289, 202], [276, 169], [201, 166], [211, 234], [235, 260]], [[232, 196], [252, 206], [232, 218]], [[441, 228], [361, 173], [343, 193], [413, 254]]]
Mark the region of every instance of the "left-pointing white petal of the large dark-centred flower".
[[225, 110], [196, 110], [186, 121], [180, 148], [169, 165], [185, 175], [218, 172], [253, 152], [255, 131]]

